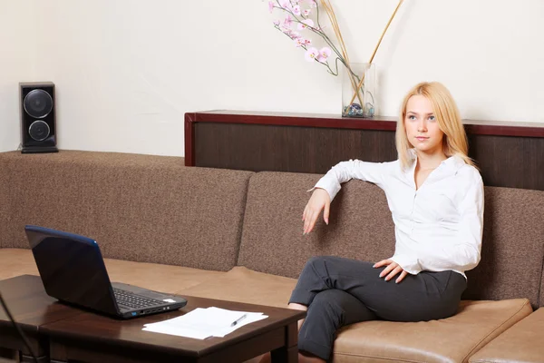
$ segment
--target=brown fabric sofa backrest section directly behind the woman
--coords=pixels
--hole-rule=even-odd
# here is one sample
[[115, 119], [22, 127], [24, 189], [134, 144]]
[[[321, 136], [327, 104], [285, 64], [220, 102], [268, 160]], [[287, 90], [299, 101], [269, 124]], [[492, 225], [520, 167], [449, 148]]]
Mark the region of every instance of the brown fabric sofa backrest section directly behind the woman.
[[[378, 261], [393, 255], [394, 231], [384, 191], [350, 181], [331, 205], [329, 225], [320, 216], [303, 236], [306, 192], [321, 175], [258, 172], [249, 181], [238, 265], [296, 278], [314, 255]], [[485, 188], [480, 265], [467, 272], [463, 299], [539, 299], [544, 261], [544, 191]]]

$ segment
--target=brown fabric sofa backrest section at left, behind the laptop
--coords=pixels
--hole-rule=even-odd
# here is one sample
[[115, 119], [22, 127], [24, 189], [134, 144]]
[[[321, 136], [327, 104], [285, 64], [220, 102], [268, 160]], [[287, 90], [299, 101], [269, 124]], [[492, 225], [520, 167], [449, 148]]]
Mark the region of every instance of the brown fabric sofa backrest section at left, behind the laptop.
[[0, 246], [25, 224], [86, 235], [104, 257], [205, 270], [235, 266], [253, 172], [116, 152], [0, 153]]

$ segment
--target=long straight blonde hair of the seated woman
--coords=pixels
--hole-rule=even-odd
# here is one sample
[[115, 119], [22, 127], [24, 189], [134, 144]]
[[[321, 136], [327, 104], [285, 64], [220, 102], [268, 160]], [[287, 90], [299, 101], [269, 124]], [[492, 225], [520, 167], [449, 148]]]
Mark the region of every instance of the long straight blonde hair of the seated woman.
[[406, 104], [410, 97], [420, 94], [431, 101], [432, 112], [438, 122], [438, 127], [444, 132], [442, 139], [442, 150], [447, 157], [458, 155], [469, 165], [475, 166], [474, 162], [469, 158], [469, 142], [467, 134], [461, 123], [461, 115], [457, 104], [453, 101], [452, 93], [442, 84], [438, 82], [423, 82], [416, 84], [410, 92], [406, 94], [401, 105], [400, 117], [397, 122], [395, 143], [401, 161], [401, 166], [406, 169], [410, 166], [412, 155], [410, 149], [412, 144], [406, 136], [406, 128], [404, 127], [404, 118], [406, 117]]

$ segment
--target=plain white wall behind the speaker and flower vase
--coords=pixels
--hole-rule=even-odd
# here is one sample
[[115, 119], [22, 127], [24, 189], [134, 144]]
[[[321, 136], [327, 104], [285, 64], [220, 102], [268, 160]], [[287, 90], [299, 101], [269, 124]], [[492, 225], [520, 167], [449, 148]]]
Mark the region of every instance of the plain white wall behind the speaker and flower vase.
[[[332, 3], [351, 60], [367, 61], [397, 1]], [[186, 112], [340, 110], [340, 79], [273, 28], [267, 1], [0, 6], [2, 150], [19, 144], [21, 79], [56, 84], [62, 149], [183, 155]], [[542, 0], [405, 0], [374, 59], [378, 113], [395, 115], [414, 83], [438, 80], [465, 119], [544, 122], [543, 18]]]

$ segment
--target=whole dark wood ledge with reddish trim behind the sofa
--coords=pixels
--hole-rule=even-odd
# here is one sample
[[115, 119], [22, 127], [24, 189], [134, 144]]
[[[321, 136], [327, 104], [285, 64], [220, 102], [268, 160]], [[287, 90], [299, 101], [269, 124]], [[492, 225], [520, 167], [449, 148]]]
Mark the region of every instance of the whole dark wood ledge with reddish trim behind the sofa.
[[[463, 122], [486, 185], [544, 190], [544, 123]], [[397, 158], [393, 118], [186, 113], [186, 165], [325, 173], [335, 163]]]

